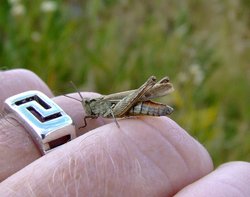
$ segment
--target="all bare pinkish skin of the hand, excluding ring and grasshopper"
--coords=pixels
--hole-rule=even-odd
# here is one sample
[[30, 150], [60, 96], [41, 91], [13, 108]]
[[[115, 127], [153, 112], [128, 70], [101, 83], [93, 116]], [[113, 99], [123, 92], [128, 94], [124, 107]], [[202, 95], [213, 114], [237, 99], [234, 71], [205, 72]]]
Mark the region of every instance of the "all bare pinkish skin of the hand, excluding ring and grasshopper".
[[[30, 71], [0, 72], [0, 84], [0, 109], [9, 96], [36, 89], [61, 106], [76, 128], [83, 123], [81, 103], [54, 97]], [[120, 128], [112, 120], [89, 120], [75, 140], [42, 157], [22, 125], [1, 113], [0, 196], [250, 195], [248, 162], [214, 170], [206, 149], [167, 117], [123, 119]]]

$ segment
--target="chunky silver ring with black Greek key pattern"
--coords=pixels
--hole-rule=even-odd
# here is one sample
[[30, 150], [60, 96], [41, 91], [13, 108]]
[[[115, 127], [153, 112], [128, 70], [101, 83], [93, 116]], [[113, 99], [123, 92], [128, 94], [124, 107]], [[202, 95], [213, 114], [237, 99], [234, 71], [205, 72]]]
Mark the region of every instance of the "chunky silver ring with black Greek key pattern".
[[4, 110], [27, 129], [42, 155], [76, 137], [72, 119], [39, 91], [7, 98]]

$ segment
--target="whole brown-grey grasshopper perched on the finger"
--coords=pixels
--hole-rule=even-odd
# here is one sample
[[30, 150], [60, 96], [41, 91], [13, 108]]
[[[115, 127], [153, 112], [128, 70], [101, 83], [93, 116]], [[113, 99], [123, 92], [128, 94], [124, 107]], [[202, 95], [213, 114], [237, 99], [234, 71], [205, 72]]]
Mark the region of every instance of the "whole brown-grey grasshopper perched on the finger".
[[86, 112], [84, 125], [81, 128], [87, 126], [88, 118], [113, 118], [119, 127], [116, 118], [169, 115], [173, 112], [172, 107], [150, 99], [165, 96], [173, 90], [173, 85], [169, 82], [168, 77], [157, 82], [156, 77], [151, 76], [138, 89], [102, 95], [97, 98], [83, 98], [78, 91], [81, 100], [76, 100], [82, 103]]

